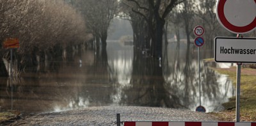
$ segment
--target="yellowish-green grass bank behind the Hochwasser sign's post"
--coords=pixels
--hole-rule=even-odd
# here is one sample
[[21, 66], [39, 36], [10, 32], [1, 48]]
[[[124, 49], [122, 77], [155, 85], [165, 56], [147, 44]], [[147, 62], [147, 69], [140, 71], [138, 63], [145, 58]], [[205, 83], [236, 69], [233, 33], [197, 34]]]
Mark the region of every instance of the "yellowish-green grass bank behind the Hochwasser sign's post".
[[[226, 74], [236, 86], [236, 72], [228, 69], [212, 68], [220, 74]], [[244, 68], [245, 69], [245, 68]], [[250, 68], [246, 68], [250, 70]], [[256, 74], [248, 75], [241, 72], [241, 98], [240, 114], [245, 121], [256, 121]], [[223, 104], [225, 111], [236, 111], [236, 97], [230, 98], [230, 101]], [[234, 117], [235, 118], [235, 117]], [[230, 121], [230, 120], [227, 120]]]

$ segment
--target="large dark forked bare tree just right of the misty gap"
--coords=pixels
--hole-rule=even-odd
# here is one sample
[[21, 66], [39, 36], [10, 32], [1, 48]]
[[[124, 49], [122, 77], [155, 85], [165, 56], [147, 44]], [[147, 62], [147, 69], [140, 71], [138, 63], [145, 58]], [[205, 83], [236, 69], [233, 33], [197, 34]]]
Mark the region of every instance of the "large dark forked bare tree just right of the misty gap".
[[147, 22], [150, 40], [150, 50], [157, 58], [162, 57], [163, 29], [166, 17], [172, 9], [183, 0], [124, 0], [123, 3], [130, 5], [132, 12], [137, 13]]

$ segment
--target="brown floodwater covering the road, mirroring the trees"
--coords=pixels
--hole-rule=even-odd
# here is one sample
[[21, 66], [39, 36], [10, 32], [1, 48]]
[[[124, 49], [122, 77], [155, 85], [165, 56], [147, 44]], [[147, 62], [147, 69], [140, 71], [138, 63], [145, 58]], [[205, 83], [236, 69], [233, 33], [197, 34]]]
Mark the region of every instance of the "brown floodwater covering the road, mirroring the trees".
[[[201, 50], [201, 59], [212, 58]], [[0, 79], [1, 110], [23, 113], [66, 111], [91, 106], [151, 106], [207, 112], [221, 110], [221, 104], [235, 95], [232, 82], [200, 61], [195, 45], [169, 43], [161, 63], [147, 51], [108, 42], [107, 53], [84, 51], [70, 61], [47, 61], [36, 72]], [[223, 66], [223, 65], [222, 65]], [[201, 90], [200, 90], [200, 89]], [[201, 97], [200, 97], [201, 96]]]

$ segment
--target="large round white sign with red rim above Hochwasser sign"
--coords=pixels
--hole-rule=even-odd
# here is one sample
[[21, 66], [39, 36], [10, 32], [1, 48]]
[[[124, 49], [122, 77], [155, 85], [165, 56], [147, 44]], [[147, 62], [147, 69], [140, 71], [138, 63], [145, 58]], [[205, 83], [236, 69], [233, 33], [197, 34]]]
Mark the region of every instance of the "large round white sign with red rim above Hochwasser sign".
[[220, 24], [236, 34], [256, 29], [256, 0], [218, 0], [216, 15]]

